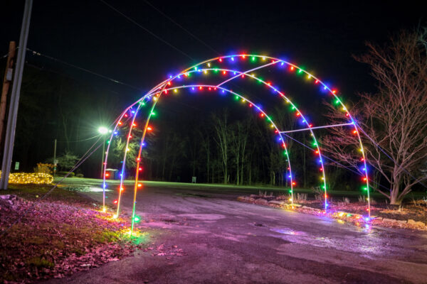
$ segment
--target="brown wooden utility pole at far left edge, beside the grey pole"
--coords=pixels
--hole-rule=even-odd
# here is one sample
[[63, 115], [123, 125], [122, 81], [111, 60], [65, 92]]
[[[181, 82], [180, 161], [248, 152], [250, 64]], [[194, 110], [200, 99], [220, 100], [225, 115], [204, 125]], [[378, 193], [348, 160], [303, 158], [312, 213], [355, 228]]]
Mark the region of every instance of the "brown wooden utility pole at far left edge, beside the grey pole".
[[12, 74], [14, 73], [15, 64], [15, 51], [16, 43], [11, 41], [9, 43], [9, 56], [7, 57], [6, 70], [4, 71], [3, 89], [1, 89], [1, 101], [0, 101], [0, 145], [3, 143], [4, 133], [4, 118], [6, 117], [6, 105], [7, 105], [7, 94], [9, 93], [9, 86], [12, 80]]

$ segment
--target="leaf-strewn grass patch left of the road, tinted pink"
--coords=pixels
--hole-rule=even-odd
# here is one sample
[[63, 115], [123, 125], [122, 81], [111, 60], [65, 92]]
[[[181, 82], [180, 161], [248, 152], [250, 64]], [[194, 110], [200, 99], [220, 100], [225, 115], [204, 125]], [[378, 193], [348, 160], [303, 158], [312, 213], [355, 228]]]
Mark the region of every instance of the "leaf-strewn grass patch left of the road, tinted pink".
[[[1, 193], [38, 200], [36, 195], [50, 188], [19, 185]], [[62, 278], [125, 257], [147, 246], [149, 239], [146, 235], [135, 244], [126, 234], [130, 227], [127, 219], [112, 219], [110, 213], [80, 206], [91, 203], [61, 188], [43, 202], [14, 200], [10, 206], [0, 202], [4, 202], [0, 206], [0, 234], [10, 227], [0, 240], [0, 283]]]

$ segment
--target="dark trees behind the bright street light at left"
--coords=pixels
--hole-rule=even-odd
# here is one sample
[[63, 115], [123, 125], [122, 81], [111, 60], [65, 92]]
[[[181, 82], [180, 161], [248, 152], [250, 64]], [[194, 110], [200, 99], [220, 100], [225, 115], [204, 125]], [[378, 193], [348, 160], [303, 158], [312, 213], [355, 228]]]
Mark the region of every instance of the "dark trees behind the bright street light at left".
[[[120, 111], [120, 100], [119, 93], [97, 84], [75, 80], [65, 72], [26, 62], [13, 162], [18, 161], [19, 171], [26, 172], [31, 172], [37, 163], [53, 162], [55, 139], [57, 158], [81, 157], [96, 141], [93, 137], [98, 135], [97, 128], [110, 123], [111, 114]], [[100, 151], [88, 162], [98, 163], [98, 160]], [[59, 167], [60, 170], [70, 168], [65, 164]], [[93, 168], [86, 163], [78, 171], [97, 175], [91, 170]]]

